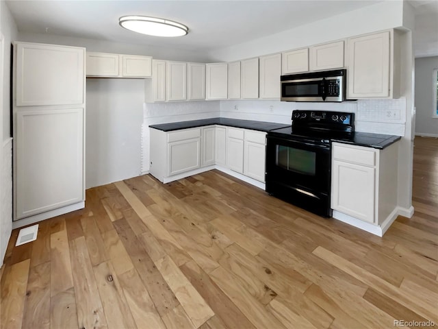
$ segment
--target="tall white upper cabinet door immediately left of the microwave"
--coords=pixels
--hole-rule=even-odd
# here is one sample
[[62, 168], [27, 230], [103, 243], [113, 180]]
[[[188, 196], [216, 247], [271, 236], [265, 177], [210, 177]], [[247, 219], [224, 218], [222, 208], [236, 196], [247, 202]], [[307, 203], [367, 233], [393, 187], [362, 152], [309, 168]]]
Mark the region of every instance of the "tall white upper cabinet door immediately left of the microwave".
[[260, 59], [260, 98], [280, 98], [281, 53]]

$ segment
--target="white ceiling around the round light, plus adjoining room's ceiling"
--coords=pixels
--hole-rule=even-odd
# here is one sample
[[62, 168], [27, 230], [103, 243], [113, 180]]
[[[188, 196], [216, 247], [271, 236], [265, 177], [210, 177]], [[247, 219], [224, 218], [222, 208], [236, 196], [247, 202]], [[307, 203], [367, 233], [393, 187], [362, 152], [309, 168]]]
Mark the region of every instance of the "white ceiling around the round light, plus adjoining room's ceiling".
[[[229, 47], [376, 2], [380, 0], [6, 1], [19, 32], [192, 51]], [[413, 0], [411, 3], [421, 15], [418, 27], [426, 31], [418, 32], [421, 42], [415, 47], [430, 53], [428, 47], [438, 45], [438, 0]], [[178, 21], [187, 25], [190, 32], [179, 38], [158, 38], [129, 32], [118, 25], [120, 16], [133, 14]], [[435, 25], [430, 20], [435, 21]], [[438, 56], [438, 47], [435, 48]]]

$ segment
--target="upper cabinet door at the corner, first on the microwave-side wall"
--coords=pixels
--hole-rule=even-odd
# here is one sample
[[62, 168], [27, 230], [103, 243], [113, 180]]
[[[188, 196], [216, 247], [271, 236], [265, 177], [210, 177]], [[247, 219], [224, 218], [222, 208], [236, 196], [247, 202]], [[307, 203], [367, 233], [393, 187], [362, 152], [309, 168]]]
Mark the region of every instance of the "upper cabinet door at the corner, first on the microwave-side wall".
[[205, 64], [206, 99], [227, 99], [228, 64]]

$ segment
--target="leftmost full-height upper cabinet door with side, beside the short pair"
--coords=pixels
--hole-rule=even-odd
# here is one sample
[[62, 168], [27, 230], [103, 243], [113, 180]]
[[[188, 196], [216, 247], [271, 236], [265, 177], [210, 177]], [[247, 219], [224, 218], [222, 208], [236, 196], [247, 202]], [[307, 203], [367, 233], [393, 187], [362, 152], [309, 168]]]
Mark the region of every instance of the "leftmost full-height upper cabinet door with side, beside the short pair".
[[152, 60], [152, 78], [144, 80], [145, 101], [166, 101], [166, 61]]

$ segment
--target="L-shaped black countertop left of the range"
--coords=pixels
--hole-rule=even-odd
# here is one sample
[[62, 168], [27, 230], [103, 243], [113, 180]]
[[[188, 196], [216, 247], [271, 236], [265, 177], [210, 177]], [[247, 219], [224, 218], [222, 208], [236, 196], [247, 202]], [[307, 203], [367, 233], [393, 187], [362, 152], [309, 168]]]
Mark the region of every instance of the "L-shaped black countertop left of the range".
[[203, 127], [204, 125], [227, 125], [228, 127], [258, 130], [259, 132], [269, 132], [270, 130], [279, 129], [288, 126], [285, 123], [228, 119], [228, 118], [211, 118], [211, 119], [192, 120], [192, 121], [161, 123], [159, 125], [149, 125], [149, 127], [155, 128], [157, 130], [162, 130], [163, 132], [171, 132], [172, 130]]

